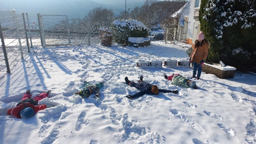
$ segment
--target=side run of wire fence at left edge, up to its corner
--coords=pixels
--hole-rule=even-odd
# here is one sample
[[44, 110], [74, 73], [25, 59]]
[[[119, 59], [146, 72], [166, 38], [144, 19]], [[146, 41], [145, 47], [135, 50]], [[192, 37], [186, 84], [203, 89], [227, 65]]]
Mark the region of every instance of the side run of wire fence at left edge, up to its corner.
[[26, 31], [22, 14], [16, 14], [15, 10], [0, 11], [1, 47], [0, 74], [10, 73], [17, 63], [28, 54]]

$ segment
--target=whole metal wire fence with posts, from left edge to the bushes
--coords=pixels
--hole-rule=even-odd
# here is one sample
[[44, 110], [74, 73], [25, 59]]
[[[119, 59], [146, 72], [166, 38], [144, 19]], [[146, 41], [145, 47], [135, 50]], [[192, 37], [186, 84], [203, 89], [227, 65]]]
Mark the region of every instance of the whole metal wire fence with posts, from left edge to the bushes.
[[16, 14], [15, 10], [0, 10], [0, 79], [11, 73], [31, 47], [99, 44], [99, 29], [108, 25], [111, 24], [68, 19], [66, 15]]

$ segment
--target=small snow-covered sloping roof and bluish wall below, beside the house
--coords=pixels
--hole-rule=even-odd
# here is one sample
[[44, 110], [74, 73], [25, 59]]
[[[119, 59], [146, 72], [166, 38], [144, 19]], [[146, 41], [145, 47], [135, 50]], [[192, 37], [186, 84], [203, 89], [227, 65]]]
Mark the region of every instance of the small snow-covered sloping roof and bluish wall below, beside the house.
[[180, 19], [179, 19], [180, 27], [184, 27], [184, 16], [188, 16], [189, 14], [190, 14], [190, 2], [187, 2], [184, 6], [182, 6], [182, 8], [174, 12], [174, 14], [172, 14], [171, 17], [176, 17], [177, 15], [180, 15]]

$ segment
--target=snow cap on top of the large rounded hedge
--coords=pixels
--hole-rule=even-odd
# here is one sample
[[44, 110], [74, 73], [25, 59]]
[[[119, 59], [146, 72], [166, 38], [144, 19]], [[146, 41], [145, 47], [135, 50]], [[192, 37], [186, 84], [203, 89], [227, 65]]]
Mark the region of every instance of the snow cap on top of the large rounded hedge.
[[135, 19], [125, 19], [125, 20], [115, 20], [113, 22], [113, 25], [115, 26], [121, 26], [122, 28], [124, 27], [129, 27], [130, 30], [142, 30], [143, 29], [148, 29], [145, 24], [142, 22], [139, 22]]

